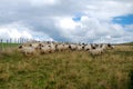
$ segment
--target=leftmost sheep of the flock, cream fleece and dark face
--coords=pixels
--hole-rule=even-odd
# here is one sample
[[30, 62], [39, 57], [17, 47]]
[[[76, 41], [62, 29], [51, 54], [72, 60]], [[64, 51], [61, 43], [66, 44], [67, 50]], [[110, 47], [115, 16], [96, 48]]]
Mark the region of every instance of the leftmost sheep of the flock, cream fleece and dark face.
[[35, 52], [35, 49], [33, 47], [19, 46], [19, 49], [24, 56], [30, 56]]

